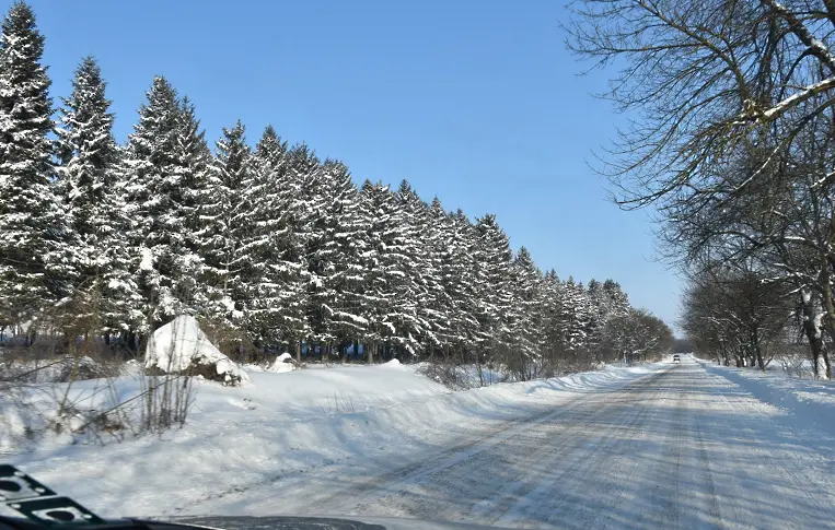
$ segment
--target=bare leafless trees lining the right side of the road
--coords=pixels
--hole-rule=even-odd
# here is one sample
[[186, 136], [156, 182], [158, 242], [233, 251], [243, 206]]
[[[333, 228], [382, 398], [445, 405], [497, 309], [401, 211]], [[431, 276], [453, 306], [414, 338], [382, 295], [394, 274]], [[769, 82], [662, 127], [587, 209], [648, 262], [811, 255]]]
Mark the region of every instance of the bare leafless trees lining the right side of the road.
[[835, 341], [835, 5], [584, 0], [572, 48], [623, 64], [608, 96], [639, 115], [604, 169], [652, 204], [689, 278], [683, 327], [730, 364]]

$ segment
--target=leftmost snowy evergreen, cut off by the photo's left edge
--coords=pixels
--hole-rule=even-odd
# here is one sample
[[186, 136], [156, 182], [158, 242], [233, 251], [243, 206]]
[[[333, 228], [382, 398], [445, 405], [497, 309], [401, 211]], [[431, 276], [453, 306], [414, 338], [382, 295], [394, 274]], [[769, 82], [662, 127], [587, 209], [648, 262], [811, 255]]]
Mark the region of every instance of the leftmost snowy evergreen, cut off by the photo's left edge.
[[15, 2], [0, 28], [0, 325], [21, 322], [69, 293], [51, 162], [50, 81], [32, 9]]

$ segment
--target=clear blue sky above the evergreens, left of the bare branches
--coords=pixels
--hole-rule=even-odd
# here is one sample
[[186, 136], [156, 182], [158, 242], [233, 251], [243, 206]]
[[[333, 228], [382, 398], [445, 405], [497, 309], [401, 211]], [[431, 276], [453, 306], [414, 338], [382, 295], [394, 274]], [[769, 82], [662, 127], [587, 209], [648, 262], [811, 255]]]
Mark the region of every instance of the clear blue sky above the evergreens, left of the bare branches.
[[[123, 141], [155, 74], [214, 141], [236, 119], [344, 160], [358, 181], [408, 179], [471, 216], [496, 213], [543, 269], [613, 278], [673, 325], [680, 280], [585, 164], [623, 120], [590, 94], [606, 72], [566, 50], [553, 0], [33, 0], [53, 95], [95, 56]], [[3, 11], [11, 5], [0, 0]]]

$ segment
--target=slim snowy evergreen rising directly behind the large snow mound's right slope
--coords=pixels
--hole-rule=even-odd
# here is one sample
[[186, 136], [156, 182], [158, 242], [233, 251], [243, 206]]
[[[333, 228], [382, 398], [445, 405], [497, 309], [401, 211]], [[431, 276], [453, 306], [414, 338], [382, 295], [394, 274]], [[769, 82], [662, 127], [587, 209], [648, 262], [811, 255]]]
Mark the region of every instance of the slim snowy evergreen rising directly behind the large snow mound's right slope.
[[243, 323], [248, 305], [246, 284], [255, 274], [250, 256], [241, 251], [242, 239], [252, 226], [243, 203], [243, 189], [251, 184], [251, 152], [246, 130], [239, 120], [216, 144], [210, 169], [210, 201], [205, 204], [207, 222], [202, 248], [207, 314], [218, 325]]

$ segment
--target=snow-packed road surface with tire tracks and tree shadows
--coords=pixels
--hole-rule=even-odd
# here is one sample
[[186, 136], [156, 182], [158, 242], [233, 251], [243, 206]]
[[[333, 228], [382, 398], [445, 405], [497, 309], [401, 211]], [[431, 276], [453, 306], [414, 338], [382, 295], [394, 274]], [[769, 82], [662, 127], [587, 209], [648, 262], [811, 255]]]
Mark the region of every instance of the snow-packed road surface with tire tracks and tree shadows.
[[334, 462], [181, 513], [511, 528], [835, 528], [835, 443], [789, 420], [685, 357], [626, 387], [475, 429], [462, 444], [403, 455], [386, 472], [364, 469], [361, 458]]

